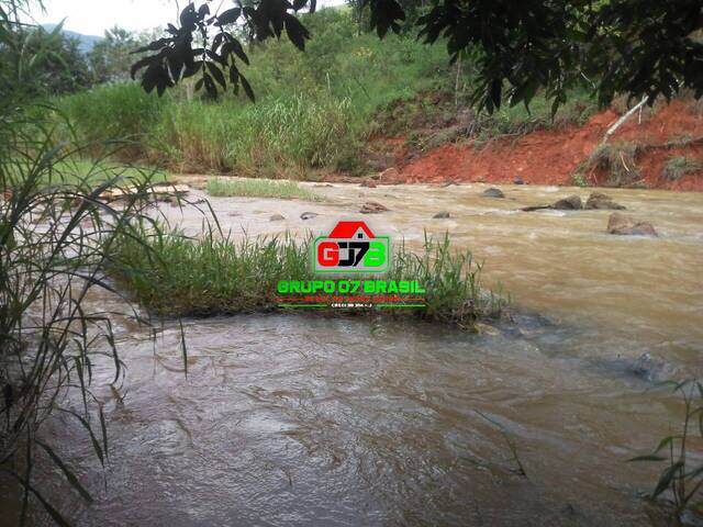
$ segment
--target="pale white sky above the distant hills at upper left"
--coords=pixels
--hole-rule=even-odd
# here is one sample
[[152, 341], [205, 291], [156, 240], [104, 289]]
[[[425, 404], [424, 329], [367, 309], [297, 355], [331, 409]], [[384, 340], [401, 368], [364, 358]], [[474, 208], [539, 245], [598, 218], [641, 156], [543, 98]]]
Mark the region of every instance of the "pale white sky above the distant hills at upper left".
[[[234, 3], [222, 0], [224, 5]], [[182, 9], [188, 1], [179, 0]], [[317, 2], [319, 5], [343, 3], [342, 0]], [[45, 12], [35, 9], [34, 20], [40, 24], [58, 23], [64, 18], [64, 29], [85, 35], [101, 36], [115, 24], [131, 31], [160, 27], [178, 20], [176, 0], [44, 0]], [[211, 9], [217, 7], [215, 0]]]

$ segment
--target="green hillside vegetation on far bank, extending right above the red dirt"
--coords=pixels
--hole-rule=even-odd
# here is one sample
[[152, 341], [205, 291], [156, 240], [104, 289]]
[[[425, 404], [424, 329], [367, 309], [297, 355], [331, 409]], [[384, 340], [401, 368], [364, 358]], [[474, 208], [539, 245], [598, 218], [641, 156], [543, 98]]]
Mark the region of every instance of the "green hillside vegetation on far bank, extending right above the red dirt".
[[382, 42], [358, 34], [348, 10], [325, 9], [305, 21], [314, 34], [305, 53], [287, 40], [254, 44], [248, 52], [246, 75], [256, 104], [244, 93], [210, 100], [194, 93], [194, 81], [163, 98], [127, 82], [54, 103], [85, 141], [127, 138], [123, 160], [172, 171], [293, 179], [317, 170], [386, 168], [368, 160], [366, 141], [376, 134], [406, 136], [411, 148], [424, 149], [580, 122], [594, 110], [574, 97], [553, 120], [538, 96], [532, 113], [521, 105], [477, 114], [466, 108], [473, 75], [468, 59], [453, 66], [442, 47], [410, 34]]

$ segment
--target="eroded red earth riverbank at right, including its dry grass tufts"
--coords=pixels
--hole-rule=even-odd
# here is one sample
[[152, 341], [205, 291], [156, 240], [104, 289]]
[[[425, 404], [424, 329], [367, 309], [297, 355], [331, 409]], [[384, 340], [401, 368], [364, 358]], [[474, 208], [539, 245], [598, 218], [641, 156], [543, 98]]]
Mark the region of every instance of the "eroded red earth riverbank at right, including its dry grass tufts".
[[[489, 139], [461, 137], [458, 124], [423, 131], [437, 137], [454, 130], [457, 138], [417, 148], [408, 136], [377, 136], [369, 147], [384, 156], [386, 183], [486, 182], [582, 187], [631, 187], [703, 191], [703, 106], [674, 100], [645, 109], [599, 147], [621, 116], [610, 109], [584, 124], [567, 123]], [[470, 126], [465, 123], [464, 126]], [[341, 175], [331, 181], [352, 181]], [[377, 177], [370, 178], [376, 180]]]

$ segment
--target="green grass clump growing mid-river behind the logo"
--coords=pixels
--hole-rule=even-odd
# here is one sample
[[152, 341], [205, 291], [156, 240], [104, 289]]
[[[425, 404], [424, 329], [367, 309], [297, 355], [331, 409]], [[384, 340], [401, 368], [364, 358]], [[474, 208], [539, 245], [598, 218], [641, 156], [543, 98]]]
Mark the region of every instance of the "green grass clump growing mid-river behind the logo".
[[[272, 311], [279, 280], [312, 280], [311, 239], [289, 235], [234, 240], [210, 231], [189, 238], [172, 231], [148, 237], [149, 250], [124, 238], [113, 274], [148, 310], [170, 316]], [[114, 266], [114, 264], [113, 264]], [[427, 321], [472, 328], [478, 318], [498, 316], [505, 300], [480, 287], [481, 266], [470, 251], [457, 253], [449, 237], [425, 237], [417, 254], [404, 244], [394, 255], [389, 280], [417, 280], [425, 288], [423, 310], [398, 311]], [[393, 313], [390, 313], [393, 312]]]

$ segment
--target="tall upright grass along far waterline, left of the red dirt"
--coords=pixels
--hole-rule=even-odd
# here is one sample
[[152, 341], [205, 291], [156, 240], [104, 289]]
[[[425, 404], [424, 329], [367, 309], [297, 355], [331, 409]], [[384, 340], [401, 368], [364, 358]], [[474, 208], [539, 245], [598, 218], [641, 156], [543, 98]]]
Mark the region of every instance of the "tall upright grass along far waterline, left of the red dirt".
[[343, 164], [358, 141], [348, 99], [196, 101], [163, 112], [152, 130], [149, 155], [183, 171], [302, 179], [310, 169]]

